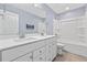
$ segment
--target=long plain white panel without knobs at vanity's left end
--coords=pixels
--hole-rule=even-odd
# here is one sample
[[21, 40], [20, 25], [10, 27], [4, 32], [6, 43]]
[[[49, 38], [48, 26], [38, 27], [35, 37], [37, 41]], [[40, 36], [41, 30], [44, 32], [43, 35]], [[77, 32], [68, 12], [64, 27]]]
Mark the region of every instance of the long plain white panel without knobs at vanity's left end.
[[33, 44], [28, 44], [23, 46], [13, 47], [10, 50], [2, 51], [2, 61], [9, 62], [12, 61], [19, 56], [22, 56], [31, 51], [33, 51]]

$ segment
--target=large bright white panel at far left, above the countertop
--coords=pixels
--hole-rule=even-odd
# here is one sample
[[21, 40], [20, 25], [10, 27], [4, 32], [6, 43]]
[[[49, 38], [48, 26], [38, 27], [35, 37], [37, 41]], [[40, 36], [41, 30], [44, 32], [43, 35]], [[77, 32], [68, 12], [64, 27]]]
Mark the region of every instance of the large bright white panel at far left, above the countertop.
[[0, 37], [19, 34], [19, 14], [0, 9]]

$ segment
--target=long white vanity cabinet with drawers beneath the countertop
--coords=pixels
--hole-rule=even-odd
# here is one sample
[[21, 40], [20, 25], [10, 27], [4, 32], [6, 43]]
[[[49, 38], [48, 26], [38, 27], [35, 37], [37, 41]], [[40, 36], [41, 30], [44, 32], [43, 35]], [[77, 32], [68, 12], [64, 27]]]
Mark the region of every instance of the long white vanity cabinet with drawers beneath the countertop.
[[1, 62], [51, 62], [56, 56], [56, 36], [0, 51]]

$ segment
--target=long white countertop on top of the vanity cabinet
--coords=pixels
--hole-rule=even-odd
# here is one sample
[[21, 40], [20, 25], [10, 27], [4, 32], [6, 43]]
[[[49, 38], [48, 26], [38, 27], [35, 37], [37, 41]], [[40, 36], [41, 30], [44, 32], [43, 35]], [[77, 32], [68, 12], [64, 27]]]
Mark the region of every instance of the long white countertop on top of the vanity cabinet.
[[26, 36], [24, 37], [24, 40], [22, 41], [19, 37], [14, 37], [14, 39], [8, 39], [8, 40], [0, 40], [0, 51], [9, 48], [9, 47], [14, 47], [14, 46], [19, 46], [19, 45], [23, 45], [23, 44], [29, 44], [32, 42], [36, 42], [36, 41], [41, 41], [44, 39], [48, 39], [48, 37], [53, 37], [55, 35], [45, 35], [45, 36], [41, 36], [41, 35], [31, 35], [31, 36]]

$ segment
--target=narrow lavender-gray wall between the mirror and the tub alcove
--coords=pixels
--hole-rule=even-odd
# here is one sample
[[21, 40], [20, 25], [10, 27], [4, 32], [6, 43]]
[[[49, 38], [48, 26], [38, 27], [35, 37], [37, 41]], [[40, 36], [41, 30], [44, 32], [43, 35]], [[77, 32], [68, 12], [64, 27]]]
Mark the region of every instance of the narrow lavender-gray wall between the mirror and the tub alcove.
[[55, 12], [46, 4], [43, 4], [43, 9], [46, 12], [45, 14], [46, 34], [53, 35], [53, 19], [55, 18]]

